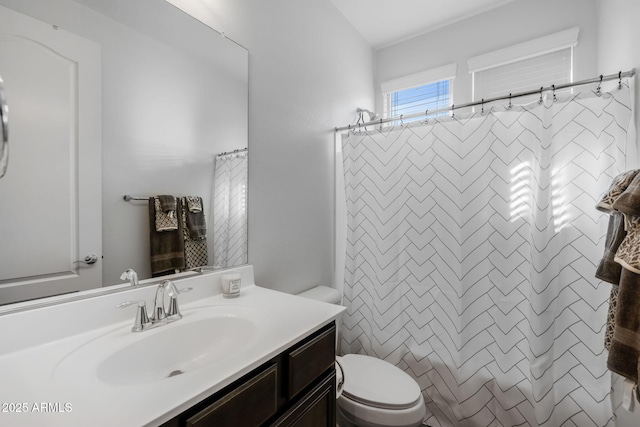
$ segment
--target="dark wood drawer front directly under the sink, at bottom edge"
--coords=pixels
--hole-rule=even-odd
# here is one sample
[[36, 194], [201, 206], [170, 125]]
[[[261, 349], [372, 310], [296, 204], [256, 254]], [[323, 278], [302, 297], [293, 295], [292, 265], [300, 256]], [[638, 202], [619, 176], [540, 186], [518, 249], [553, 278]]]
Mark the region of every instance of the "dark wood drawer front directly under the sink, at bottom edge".
[[247, 380], [187, 420], [188, 427], [259, 426], [278, 410], [277, 365]]

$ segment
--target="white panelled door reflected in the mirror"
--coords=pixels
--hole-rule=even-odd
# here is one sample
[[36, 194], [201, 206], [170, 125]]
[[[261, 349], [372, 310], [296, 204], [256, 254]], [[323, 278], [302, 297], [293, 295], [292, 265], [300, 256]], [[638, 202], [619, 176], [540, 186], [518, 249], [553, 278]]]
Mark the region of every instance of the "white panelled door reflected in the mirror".
[[101, 286], [100, 66], [96, 43], [0, 6], [0, 304]]

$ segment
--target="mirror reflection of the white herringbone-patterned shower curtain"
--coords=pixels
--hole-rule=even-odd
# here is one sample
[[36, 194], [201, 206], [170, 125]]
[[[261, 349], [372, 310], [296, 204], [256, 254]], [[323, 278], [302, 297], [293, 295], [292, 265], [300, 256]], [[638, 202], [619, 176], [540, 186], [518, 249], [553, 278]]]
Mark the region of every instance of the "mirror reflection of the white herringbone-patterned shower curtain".
[[217, 156], [213, 178], [213, 264], [232, 267], [247, 259], [248, 155]]

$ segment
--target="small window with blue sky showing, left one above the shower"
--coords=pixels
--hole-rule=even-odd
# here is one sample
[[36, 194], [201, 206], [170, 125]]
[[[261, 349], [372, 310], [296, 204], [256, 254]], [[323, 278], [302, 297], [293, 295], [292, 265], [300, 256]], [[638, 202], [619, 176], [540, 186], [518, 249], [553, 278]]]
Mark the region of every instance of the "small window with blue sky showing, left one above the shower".
[[383, 117], [419, 114], [414, 118], [403, 118], [404, 122], [410, 122], [424, 119], [426, 110], [450, 107], [456, 69], [456, 64], [449, 64], [382, 83]]

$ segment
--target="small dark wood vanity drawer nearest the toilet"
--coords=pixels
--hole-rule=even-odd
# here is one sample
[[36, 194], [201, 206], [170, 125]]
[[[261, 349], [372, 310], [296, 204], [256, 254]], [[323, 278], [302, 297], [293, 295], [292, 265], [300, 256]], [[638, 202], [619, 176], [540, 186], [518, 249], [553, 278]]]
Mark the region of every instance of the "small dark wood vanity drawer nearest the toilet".
[[336, 327], [321, 332], [287, 354], [288, 394], [292, 399], [324, 371], [333, 368], [336, 359]]

